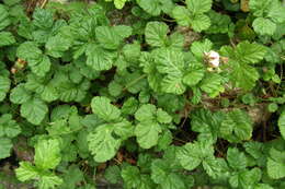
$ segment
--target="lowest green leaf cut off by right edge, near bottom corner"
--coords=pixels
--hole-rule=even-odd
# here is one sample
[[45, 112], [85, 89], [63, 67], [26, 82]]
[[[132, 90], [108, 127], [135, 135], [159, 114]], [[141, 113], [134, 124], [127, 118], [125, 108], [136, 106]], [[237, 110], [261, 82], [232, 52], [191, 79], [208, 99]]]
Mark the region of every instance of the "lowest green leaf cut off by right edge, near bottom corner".
[[270, 156], [267, 157], [267, 174], [273, 179], [280, 179], [285, 177], [285, 152], [277, 151], [275, 149], [270, 150]]

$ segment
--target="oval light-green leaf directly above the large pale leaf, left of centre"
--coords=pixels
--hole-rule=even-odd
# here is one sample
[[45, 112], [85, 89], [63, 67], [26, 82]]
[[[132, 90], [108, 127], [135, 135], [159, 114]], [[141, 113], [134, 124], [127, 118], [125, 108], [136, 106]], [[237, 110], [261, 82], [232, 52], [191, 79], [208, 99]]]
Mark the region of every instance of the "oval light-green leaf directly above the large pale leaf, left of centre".
[[111, 104], [111, 101], [104, 96], [95, 96], [92, 98], [91, 107], [93, 114], [105, 121], [118, 120], [121, 110]]

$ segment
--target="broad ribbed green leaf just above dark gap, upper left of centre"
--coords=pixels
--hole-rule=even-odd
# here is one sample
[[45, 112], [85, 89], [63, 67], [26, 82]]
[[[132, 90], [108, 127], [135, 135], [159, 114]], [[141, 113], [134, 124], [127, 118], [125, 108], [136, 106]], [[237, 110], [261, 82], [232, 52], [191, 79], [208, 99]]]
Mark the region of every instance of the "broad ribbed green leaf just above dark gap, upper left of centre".
[[95, 71], [110, 70], [116, 56], [115, 52], [103, 49], [95, 44], [89, 44], [86, 55], [87, 66]]

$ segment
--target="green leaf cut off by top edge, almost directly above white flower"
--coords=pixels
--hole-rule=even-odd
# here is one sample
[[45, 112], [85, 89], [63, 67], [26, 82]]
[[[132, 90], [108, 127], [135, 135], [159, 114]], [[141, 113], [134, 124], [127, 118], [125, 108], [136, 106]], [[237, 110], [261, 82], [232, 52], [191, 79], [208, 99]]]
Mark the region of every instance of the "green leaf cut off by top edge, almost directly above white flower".
[[186, 0], [186, 4], [193, 14], [201, 14], [210, 10], [212, 0]]

